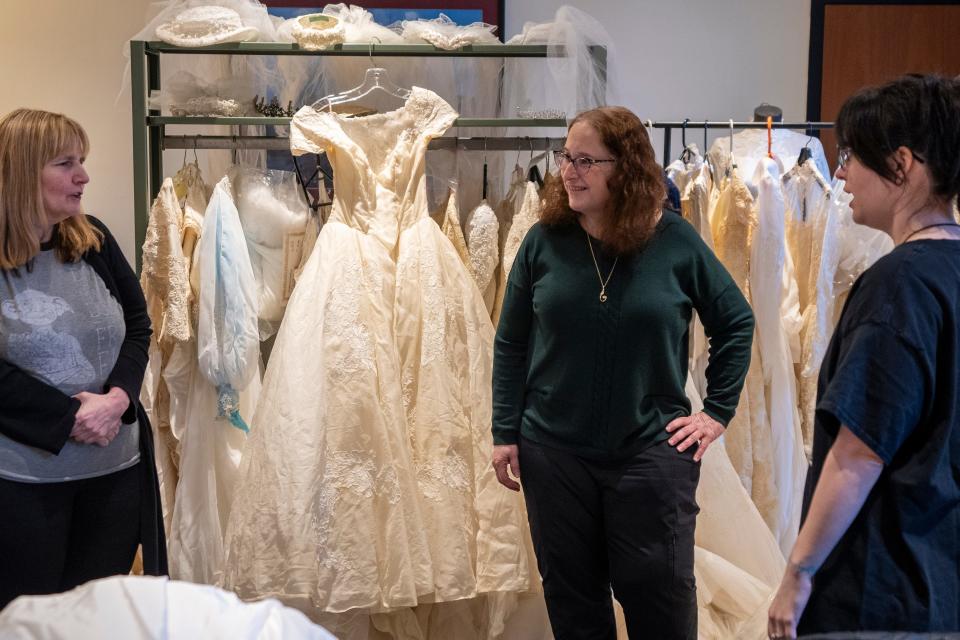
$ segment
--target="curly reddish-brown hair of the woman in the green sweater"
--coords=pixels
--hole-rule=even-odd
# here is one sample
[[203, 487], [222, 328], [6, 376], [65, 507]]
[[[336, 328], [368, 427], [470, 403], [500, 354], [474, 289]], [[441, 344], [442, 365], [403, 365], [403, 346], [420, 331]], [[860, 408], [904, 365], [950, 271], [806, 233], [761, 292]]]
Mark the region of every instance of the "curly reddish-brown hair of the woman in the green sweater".
[[[608, 213], [601, 240], [617, 254], [640, 249], [653, 235], [657, 214], [667, 195], [663, 170], [647, 136], [647, 130], [632, 111], [624, 107], [599, 107], [577, 115], [567, 128], [578, 122], [589, 124], [603, 145], [617, 159], [607, 180], [610, 191]], [[548, 185], [540, 222], [561, 225], [576, 222], [579, 215], [570, 208], [562, 180]]]

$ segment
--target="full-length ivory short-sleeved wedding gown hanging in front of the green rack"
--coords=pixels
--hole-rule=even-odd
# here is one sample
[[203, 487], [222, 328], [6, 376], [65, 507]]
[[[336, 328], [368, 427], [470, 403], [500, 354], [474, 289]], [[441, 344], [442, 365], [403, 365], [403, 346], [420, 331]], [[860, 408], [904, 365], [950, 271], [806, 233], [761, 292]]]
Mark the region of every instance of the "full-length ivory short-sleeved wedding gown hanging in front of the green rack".
[[455, 118], [414, 87], [389, 113], [293, 119], [335, 197], [241, 467], [224, 584], [243, 598], [319, 616], [536, 588], [521, 498], [490, 466], [493, 328], [427, 210], [426, 147]]

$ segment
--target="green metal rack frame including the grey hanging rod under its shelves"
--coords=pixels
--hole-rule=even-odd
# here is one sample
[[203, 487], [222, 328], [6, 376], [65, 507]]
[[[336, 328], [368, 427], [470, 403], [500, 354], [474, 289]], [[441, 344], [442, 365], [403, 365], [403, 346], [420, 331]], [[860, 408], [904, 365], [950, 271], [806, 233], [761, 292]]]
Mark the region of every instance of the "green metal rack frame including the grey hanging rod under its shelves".
[[[552, 55], [562, 50], [551, 49]], [[591, 47], [594, 65], [606, 82], [607, 51]], [[136, 267], [140, 270], [141, 247], [146, 236], [150, 203], [160, 192], [163, 182], [163, 150], [166, 149], [288, 149], [283, 138], [268, 136], [167, 136], [167, 125], [286, 125], [290, 118], [243, 117], [168, 117], [147, 108], [151, 91], [160, 89], [162, 55], [293, 55], [293, 56], [362, 56], [380, 57], [470, 57], [470, 58], [546, 58], [546, 45], [470, 45], [459, 49], [438, 49], [427, 44], [380, 45], [340, 44], [324, 51], [307, 51], [296, 44], [245, 42], [209, 47], [177, 47], [164, 42], [130, 41], [130, 76], [133, 99], [133, 191]], [[496, 87], [499, 91], [499, 87]], [[454, 127], [554, 127], [566, 129], [565, 119], [538, 118], [458, 118]], [[437, 138], [430, 149], [545, 150], [562, 146], [562, 138], [542, 137], [474, 137]], [[274, 146], [279, 145], [279, 146]]]

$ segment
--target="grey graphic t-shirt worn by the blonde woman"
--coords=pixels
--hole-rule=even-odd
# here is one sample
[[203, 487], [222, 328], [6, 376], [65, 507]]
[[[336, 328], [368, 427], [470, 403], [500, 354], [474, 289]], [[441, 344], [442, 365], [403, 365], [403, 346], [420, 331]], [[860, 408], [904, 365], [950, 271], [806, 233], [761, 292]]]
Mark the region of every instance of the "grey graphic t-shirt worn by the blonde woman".
[[[67, 395], [103, 393], [126, 333], [123, 309], [86, 262], [41, 251], [31, 269], [3, 271], [0, 358]], [[140, 459], [136, 426], [106, 447], [68, 440], [58, 455], [0, 434], [0, 477], [62, 482], [105, 475]]]

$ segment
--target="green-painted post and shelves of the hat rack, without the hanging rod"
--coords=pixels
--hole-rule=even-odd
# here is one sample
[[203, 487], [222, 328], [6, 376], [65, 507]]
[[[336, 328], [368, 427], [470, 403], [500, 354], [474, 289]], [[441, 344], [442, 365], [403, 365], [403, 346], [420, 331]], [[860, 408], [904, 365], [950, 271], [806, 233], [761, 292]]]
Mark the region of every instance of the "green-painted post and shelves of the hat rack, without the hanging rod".
[[[553, 55], [562, 51], [552, 50]], [[594, 64], [606, 69], [606, 50], [591, 51]], [[546, 45], [471, 45], [460, 49], [438, 49], [427, 44], [380, 45], [341, 44], [324, 51], [307, 51], [296, 44], [245, 42], [210, 47], [177, 47], [163, 42], [132, 40], [130, 42], [131, 92], [133, 94], [133, 188], [134, 233], [137, 271], [140, 251], [147, 231], [150, 203], [163, 182], [163, 149], [167, 125], [287, 125], [290, 118], [242, 117], [171, 117], [147, 108], [147, 96], [160, 89], [160, 57], [162, 55], [310, 55], [310, 56], [380, 56], [380, 57], [473, 57], [473, 58], [546, 58]], [[527, 118], [458, 118], [454, 127], [556, 127], [565, 128], [564, 119]], [[262, 136], [230, 136], [253, 146]], [[178, 148], [183, 148], [182, 146]]]

